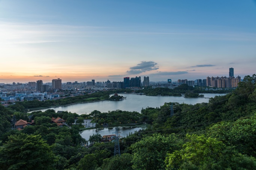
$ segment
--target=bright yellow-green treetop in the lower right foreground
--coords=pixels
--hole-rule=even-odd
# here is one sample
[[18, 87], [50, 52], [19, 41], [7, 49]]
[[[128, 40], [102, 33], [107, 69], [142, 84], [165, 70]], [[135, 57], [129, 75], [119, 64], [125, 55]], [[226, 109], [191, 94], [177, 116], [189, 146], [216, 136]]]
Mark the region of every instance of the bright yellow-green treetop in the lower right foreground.
[[179, 169], [188, 164], [194, 167], [207, 165], [207, 169], [211, 169], [211, 165], [216, 163], [225, 148], [222, 142], [204, 135], [187, 135], [186, 138], [189, 142], [186, 142], [181, 150], [168, 154], [165, 161], [167, 169]]

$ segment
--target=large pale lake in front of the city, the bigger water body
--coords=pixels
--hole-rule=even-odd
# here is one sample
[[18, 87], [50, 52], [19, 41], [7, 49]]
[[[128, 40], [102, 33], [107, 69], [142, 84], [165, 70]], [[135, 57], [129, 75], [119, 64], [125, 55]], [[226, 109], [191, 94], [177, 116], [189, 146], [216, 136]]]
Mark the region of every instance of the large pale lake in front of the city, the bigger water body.
[[[125, 110], [125, 111], [137, 111], [140, 113], [141, 108], [146, 107], [160, 107], [164, 103], [177, 102], [186, 104], [196, 104], [196, 103], [208, 103], [208, 97], [214, 97], [225, 94], [203, 94], [207, 98], [185, 98], [185, 97], [174, 97], [174, 96], [146, 96], [146, 95], [136, 95], [136, 94], [119, 94], [127, 97], [125, 100], [121, 101], [97, 101], [89, 103], [77, 103], [69, 106], [60, 106], [47, 109], [54, 109], [55, 111], [70, 111], [71, 113], [77, 114], [89, 114], [94, 110], [101, 112], [107, 112], [112, 110]], [[47, 109], [42, 109], [45, 111]]]

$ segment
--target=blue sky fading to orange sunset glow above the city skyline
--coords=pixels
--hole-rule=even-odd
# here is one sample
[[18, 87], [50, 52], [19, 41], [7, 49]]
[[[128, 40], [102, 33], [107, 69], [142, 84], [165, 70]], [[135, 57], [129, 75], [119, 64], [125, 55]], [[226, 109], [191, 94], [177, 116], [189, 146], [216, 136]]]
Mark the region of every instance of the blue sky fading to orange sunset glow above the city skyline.
[[256, 73], [256, 0], [0, 0], [0, 83]]

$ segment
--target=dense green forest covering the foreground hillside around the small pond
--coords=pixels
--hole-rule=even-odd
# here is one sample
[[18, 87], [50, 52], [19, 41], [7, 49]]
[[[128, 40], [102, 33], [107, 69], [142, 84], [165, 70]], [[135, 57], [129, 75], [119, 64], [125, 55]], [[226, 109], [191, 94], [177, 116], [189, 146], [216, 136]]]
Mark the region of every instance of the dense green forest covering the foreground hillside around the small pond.
[[[181, 89], [182, 90], [182, 89]], [[101, 94], [102, 95], [102, 94]], [[252, 170], [256, 169], [256, 75], [245, 76], [224, 96], [195, 105], [172, 103], [78, 115], [54, 110], [26, 113], [23, 104], [0, 106], [0, 167], [3, 170]], [[132, 107], [132, 106], [131, 106]], [[51, 123], [61, 117], [68, 127]], [[98, 127], [148, 123], [151, 127], [114, 142], [89, 141], [79, 134], [75, 119], [91, 117]], [[35, 125], [13, 130], [14, 120], [33, 119]], [[87, 148], [85, 145], [93, 144]]]

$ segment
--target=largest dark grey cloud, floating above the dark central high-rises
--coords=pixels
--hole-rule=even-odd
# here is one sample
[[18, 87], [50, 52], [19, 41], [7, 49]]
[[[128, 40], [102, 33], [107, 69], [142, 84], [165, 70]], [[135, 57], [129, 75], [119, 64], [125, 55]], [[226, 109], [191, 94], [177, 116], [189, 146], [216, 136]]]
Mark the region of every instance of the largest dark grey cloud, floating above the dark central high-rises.
[[157, 63], [153, 61], [142, 61], [137, 66], [130, 67], [130, 70], [127, 71], [128, 74], [140, 74], [143, 72], [151, 71], [151, 70], [157, 70], [159, 67], [156, 67]]

